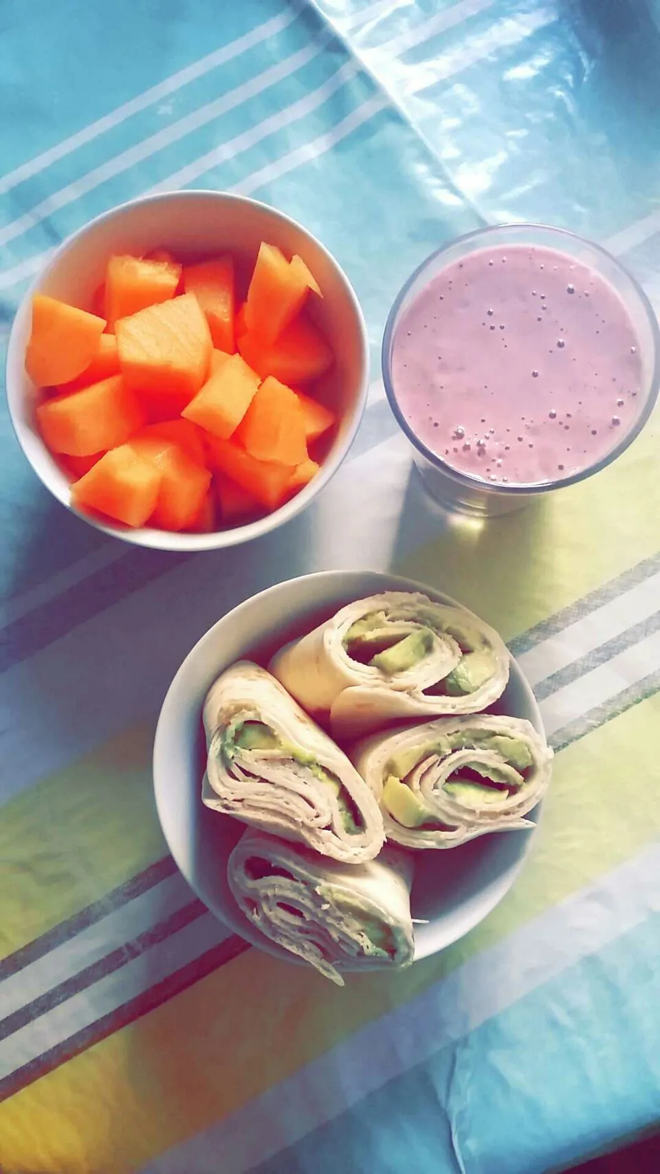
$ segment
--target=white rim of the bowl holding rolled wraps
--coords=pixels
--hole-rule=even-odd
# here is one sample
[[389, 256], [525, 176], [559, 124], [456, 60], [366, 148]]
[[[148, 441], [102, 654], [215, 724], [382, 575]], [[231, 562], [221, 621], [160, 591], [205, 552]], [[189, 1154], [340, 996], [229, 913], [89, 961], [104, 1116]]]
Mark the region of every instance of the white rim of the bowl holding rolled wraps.
[[[254, 929], [254, 926], [251, 926], [249, 924], [249, 922], [247, 920], [247, 918], [243, 917], [243, 915], [241, 913], [241, 911], [238, 909], [235, 910], [235, 916], [231, 917], [231, 916], [227, 916], [227, 913], [224, 911], [224, 908], [223, 908], [223, 911], [221, 911], [220, 905], [218, 905], [217, 902], [214, 900], [213, 904], [209, 904], [209, 899], [210, 899], [209, 893], [207, 893], [202, 888], [200, 888], [197, 884], [195, 884], [194, 880], [190, 878], [190, 876], [188, 873], [188, 870], [184, 869], [184, 868], [182, 868], [182, 865], [180, 863], [179, 853], [177, 853], [177, 851], [175, 850], [175, 848], [173, 846], [173, 844], [169, 841], [168, 834], [166, 831], [166, 823], [167, 823], [167, 821], [164, 818], [164, 807], [163, 807], [164, 799], [163, 799], [163, 795], [161, 794], [161, 785], [159, 784], [157, 780], [160, 777], [164, 777], [166, 774], [167, 774], [167, 770], [168, 770], [168, 765], [167, 764], [169, 762], [169, 755], [168, 755], [168, 748], [167, 748], [167, 733], [166, 731], [167, 731], [168, 726], [171, 722], [170, 710], [171, 710], [171, 713], [176, 713], [180, 709], [180, 707], [177, 704], [175, 704], [175, 695], [179, 691], [179, 682], [180, 682], [181, 677], [184, 677], [187, 675], [187, 673], [188, 673], [188, 670], [190, 668], [190, 664], [193, 663], [194, 660], [196, 660], [196, 657], [200, 655], [200, 653], [203, 652], [203, 649], [206, 648], [206, 646], [209, 645], [209, 643], [213, 643], [215, 641], [215, 634], [216, 634], [217, 629], [221, 627], [221, 625], [225, 623], [227, 621], [231, 621], [237, 615], [240, 615], [241, 612], [243, 612], [244, 609], [247, 609], [249, 606], [256, 605], [256, 602], [258, 600], [263, 600], [263, 598], [265, 595], [284, 593], [287, 591], [287, 588], [290, 587], [292, 583], [308, 582], [308, 583], [311, 585], [312, 582], [319, 581], [319, 580], [323, 580], [324, 582], [336, 581], [337, 582], [337, 589], [338, 589], [337, 594], [339, 594], [341, 582], [345, 579], [346, 575], [350, 575], [351, 578], [352, 576], [357, 576], [357, 575], [361, 576], [361, 578], [369, 575], [369, 576], [371, 576], [375, 580], [380, 580], [380, 589], [382, 591], [422, 592], [423, 594], [429, 595], [430, 599], [436, 599], [436, 600], [438, 600], [440, 602], [444, 602], [444, 603], [449, 605], [449, 606], [459, 607], [459, 608], [462, 608], [462, 610], [467, 612], [470, 615], [476, 615], [474, 612], [472, 612], [469, 607], [465, 607], [465, 605], [460, 603], [458, 600], [454, 600], [453, 596], [446, 595], [444, 592], [442, 592], [442, 591], [439, 591], [439, 589], [437, 589], [435, 587], [431, 587], [427, 583], [420, 583], [420, 582], [417, 582], [417, 580], [415, 580], [415, 579], [408, 579], [405, 575], [390, 574], [389, 572], [384, 572], [384, 571], [355, 571], [355, 569], [353, 571], [348, 571], [348, 569], [344, 569], [344, 571], [314, 571], [314, 572], [310, 572], [307, 575], [296, 575], [294, 579], [284, 579], [284, 580], [282, 580], [278, 583], [271, 583], [270, 587], [264, 587], [263, 591], [257, 592], [255, 595], [250, 595], [248, 599], [243, 600], [241, 603], [237, 603], [235, 607], [230, 608], [229, 612], [225, 612], [225, 614], [222, 615], [218, 620], [216, 620], [216, 622], [214, 625], [211, 625], [210, 628], [208, 628], [208, 630], [203, 634], [203, 636], [201, 636], [196, 641], [196, 643], [193, 646], [193, 648], [190, 649], [190, 652], [188, 653], [188, 655], [183, 659], [183, 661], [179, 666], [176, 673], [174, 674], [174, 677], [171, 679], [171, 682], [170, 682], [170, 684], [168, 687], [168, 690], [166, 693], [163, 703], [161, 706], [161, 710], [160, 710], [160, 714], [159, 714], [159, 720], [157, 720], [157, 723], [156, 723], [156, 731], [155, 731], [155, 735], [154, 735], [154, 748], [153, 748], [153, 755], [151, 755], [151, 772], [153, 772], [154, 798], [155, 798], [155, 804], [156, 804], [156, 811], [157, 811], [157, 816], [159, 816], [159, 823], [160, 823], [161, 830], [163, 832], [163, 837], [166, 839], [168, 849], [171, 852], [174, 862], [175, 862], [177, 869], [180, 870], [181, 875], [184, 877], [186, 882], [190, 885], [190, 888], [196, 893], [196, 896], [200, 898], [200, 900], [214, 915], [214, 917], [217, 917], [218, 920], [221, 920], [224, 925], [228, 925], [231, 930], [234, 930], [235, 933], [237, 933], [244, 940], [249, 942], [250, 945], [255, 946], [256, 949], [263, 950], [265, 953], [269, 953], [269, 954], [271, 954], [275, 958], [280, 958], [283, 962], [289, 962], [289, 963], [292, 963], [294, 965], [299, 965], [299, 966], [305, 966], [308, 964], [303, 959], [297, 958], [290, 951], [284, 950], [283, 947], [277, 946], [274, 942], [271, 942], [264, 935], [261, 935], [258, 930]], [[349, 589], [350, 589], [350, 587], [349, 587]], [[342, 593], [342, 594], [344, 594], [344, 593]], [[359, 596], [356, 596], [356, 598], [359, 598]], [[312, 602], [314, 601], [312, 601], [312, 599], [310, 596], [310, 603], [312, 603]], [[291, 615], [291, 620], [295, 620], [294, 615]], [[540, 713], [537, 699], [534, 696], [533, 689], [532, 689], [530, 682], [527, 681], [527, 677], [525, 676], [523, 669], [520, 668], [518, 661], [513, 656], [513, 654], [510, 652], [509, 655], [510, 655], [510, 661], [511, 661], [512, 669], [513, 669], [513, 672], [517, 675], [518, 683], [523, 688], [523, 691], [524, 691], [524, 694], [526, 696], [526, 701], [527, 701], [527, 704], [528, 704], [528, 708], [530, 708], [530, 713], [532, 715], [528, 720], [532, 722], [532, 726], [534, 727], [534, 729], [537, 731], [541, 733], [543, 736], [545, 737], [546, 735], [545, 735], [545, 728], [544, 728], [544, 723], [543, 723], [543, 717], [541, 717], [541, 713]], [[200, 721], [201, 721], [201, 709], [200, 709]], [[162, 762], [162, 768], [161, 768], [161, 762]], [[162, 788], [162, 790], [164, 791], [164, 787]], [[198, 799], [200, 803], [202, 802], [202, 799], [201, 799], [201, 777], [200, 777], [200, 795], [197, 796], [197, 799]], [[446, 936], [446, 938], [443, 938], [439, 942], [439, 944], [437, 946], [435, 946], [433, 949], [426, 949], [426, 950], [424, 950], [423, 953], [419, 953], [419, 954], [416, 952], [416, 954], [415, 954], [415, 962], [422, 962], [423, 958], [432, 957], [435, 953], [438, 953], [440, 950], [444, 950], [447, 946], [453, 945], [454, 942], [458, 942], [462, 938], [464, 938], [477, 925], [479, 925], [483, 920], [485, 920], [485, 918], [489, 917], [494, 909], [497, 909], [497, 906], [500, 904], [500, 902], [504, 900], [505, 896], [512, 889], [513, 884], [516, 883], [516, 880], [518, 879], [520, 872], [523, 871], [523, 868], [524, 868], [524, 865], [525, 865], [525, 863], [527, 861], [527, 857], [528, 857], [528, 855], [530, 855], [530, 852], [532, 850], [532, 846], [533, 846], [533, 844], [536, 842], [538, 829], [539, 829], [541, 816], [543, 816], [543, 809], [544, 809], [544, 799], [541, 799], [540, 803], [538, 803], [537, 807], [534, 808], [534, 812], [537, 812], [537, 818], [534, 819], [534, 828], [530, 829], [530, 832], [525, 836], [523, 851], [520, 852], [519, 858], [513, 864], [509, 865], [503, 871], [503, 875], [498, 879], [497, 883], [492, 884], [491, 892], [487, 893], [487, 896], [484, 897], [483, 904], [480, 904], [479, 908], [477, 910], [474, 910], [473, 915], [471, 915], [471, 916], [469, 916], [469, 917], [465, 918], [464, 929], [460, 932], [456, 933], [456, 935], [449, 933]], [[231, 816], [224, 816], [223, 818], [231, 819]], [[245, 828], [247, 826], [249, 826], [249, 825], [245, 824]], [[342, 967], [342, 973], [356, 973], [358, 971], [363, 972], [363, 971], [373, 970], [373, 969], [376, 969], [376, 967], [369, 967], [369, 966], [364, 966], [364, 965], [357, 966], [355, 969], [350, 967], [350, 966], [346, 966], [346, 967]], [[377, 969], [380, 972], [383, 972], [383, 970], [384, 970], [384, 967], [377, 967]]]

